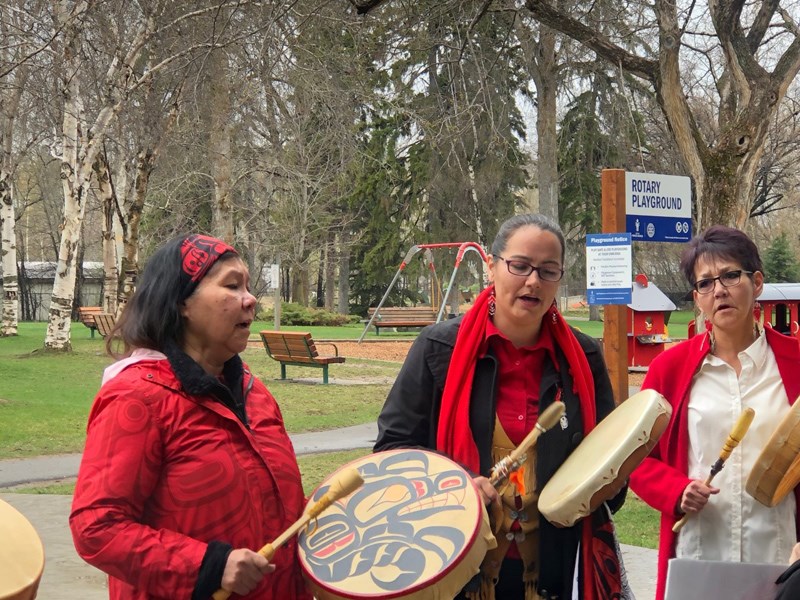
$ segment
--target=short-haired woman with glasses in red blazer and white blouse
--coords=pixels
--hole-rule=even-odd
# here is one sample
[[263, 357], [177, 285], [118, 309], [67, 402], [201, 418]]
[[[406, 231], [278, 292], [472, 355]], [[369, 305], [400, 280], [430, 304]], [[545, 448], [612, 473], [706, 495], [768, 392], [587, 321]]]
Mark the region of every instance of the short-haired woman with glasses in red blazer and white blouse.
[[[798, 539], [799, 489], [773, 508], [745, 493], [758, 455], [800, 395], [797, 339], [756, 322], [764, 288], [758, 248], [738, 229], [715, 225], [689, 242], [681, 269], [707, 329], [650, 365], [642, 387], [663, 394], [672, 417], [630, 478], [631, 489], [661, 512], [659, 600], [670, 558], [781, 563]], [[745, 408], [755, 411], [747, 435], [706, 485]], [[691, 518], [673, 533], [687, 513]]]

